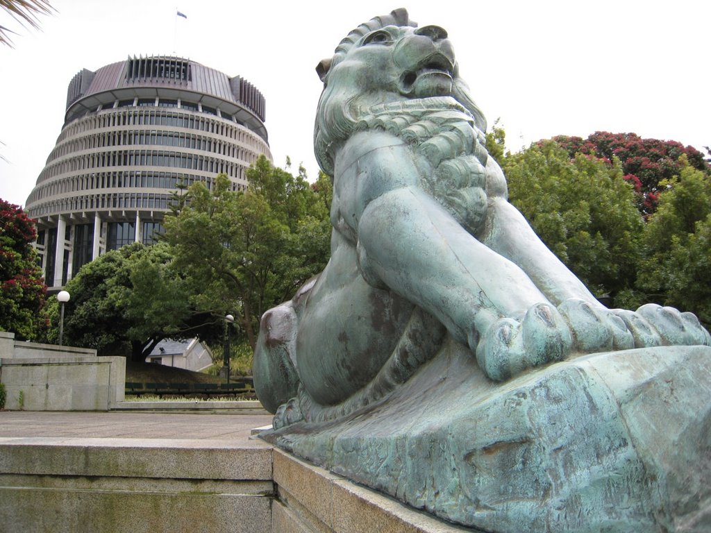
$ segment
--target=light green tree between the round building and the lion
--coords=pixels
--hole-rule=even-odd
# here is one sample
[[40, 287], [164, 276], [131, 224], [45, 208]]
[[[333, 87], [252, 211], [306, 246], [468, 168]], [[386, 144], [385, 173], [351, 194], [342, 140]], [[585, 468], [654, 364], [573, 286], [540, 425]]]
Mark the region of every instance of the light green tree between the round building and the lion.
[[200, 308], [239, 316], [253, 348], [262, 313], [326, 265], [331, 189], [324, 178], [311, 186], [303, 168], [292, 176], [264, 156], [247, 179], [246, 191], [232, 190], [225, 175], [212, 190], [192, 185], [181, 208], [166, 217], [165, 239], [193, 290], [204, 295]]

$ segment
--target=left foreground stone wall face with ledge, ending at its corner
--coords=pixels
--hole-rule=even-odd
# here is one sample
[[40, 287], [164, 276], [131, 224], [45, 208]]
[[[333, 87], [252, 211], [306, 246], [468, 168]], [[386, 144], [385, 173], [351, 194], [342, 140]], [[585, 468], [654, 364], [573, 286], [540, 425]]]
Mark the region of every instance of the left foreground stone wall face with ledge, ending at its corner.
[[0, 437], [0, 531], [271, 533], [272, 451]]

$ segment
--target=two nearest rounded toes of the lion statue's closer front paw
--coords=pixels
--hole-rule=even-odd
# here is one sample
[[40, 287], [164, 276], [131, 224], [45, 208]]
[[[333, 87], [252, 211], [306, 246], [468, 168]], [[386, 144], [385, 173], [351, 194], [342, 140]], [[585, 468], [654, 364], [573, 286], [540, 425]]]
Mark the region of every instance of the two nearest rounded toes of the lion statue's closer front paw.
[[572, 348], [570, 329], [557, 309], [537, 303], [523, 321], [501, 318], [482, 335], [476, 346], [481, 370], [503, 381], [529, 367], [565, 358]]

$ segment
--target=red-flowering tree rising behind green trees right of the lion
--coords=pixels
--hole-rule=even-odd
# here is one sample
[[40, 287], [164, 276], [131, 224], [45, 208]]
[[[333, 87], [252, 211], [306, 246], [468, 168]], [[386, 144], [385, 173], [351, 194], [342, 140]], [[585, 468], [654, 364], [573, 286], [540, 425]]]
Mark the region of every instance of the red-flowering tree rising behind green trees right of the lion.
[[[646, 217], [656, 210], [661, 181], [678, 174], [682, 164], [707, 173], [710, 170], [700, 151], [677, 141], [641, 139], [632, 133], [607, 131], [597, 131], [587, 139], [559, 135], [553, 137], [553, 141], [566, 149], [570, 158], [585, 154], [602, 158], [608, 164], [613, 158], [619, 159], [624, 178], [634, 185], [638, 208]], [[681, 156], [686, 156], [685, 163], [680, 163]]]

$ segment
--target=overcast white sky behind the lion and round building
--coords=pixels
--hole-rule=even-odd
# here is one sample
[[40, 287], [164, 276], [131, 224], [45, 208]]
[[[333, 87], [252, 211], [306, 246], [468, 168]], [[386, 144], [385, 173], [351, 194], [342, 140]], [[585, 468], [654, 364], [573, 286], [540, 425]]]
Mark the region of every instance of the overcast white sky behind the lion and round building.
[[598, 130], [711, 144], [709, 1], [51, 1], [58, 13], [41, 18], [42, 31], [0, 13], [19, 33], [14, 49], [0, 48], [0, 198], [19, 205], [60, 134], [73, 75], [129, 55], [174, 52], [247, 78], [267, 100], [274, 163], [288, 155], [315, 179], [316, 63], [400, 6], [420, 26], [447, 29], [509, 149]]

